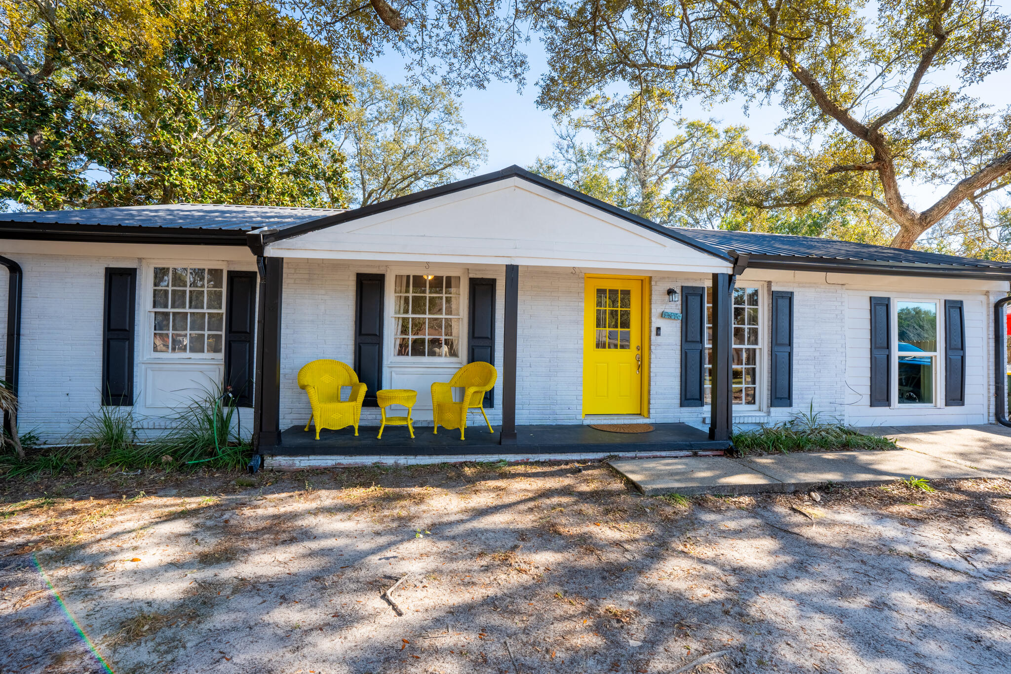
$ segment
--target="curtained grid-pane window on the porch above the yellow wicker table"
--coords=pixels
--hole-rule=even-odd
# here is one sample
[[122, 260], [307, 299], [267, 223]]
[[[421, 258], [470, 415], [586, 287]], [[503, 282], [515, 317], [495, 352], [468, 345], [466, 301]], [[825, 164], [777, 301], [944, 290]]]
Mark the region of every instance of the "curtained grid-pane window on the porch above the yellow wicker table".
[[393, 353], [413, 358], [460, 356], [460, 277], [397, 274], [393, 285]]

